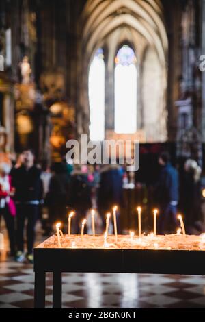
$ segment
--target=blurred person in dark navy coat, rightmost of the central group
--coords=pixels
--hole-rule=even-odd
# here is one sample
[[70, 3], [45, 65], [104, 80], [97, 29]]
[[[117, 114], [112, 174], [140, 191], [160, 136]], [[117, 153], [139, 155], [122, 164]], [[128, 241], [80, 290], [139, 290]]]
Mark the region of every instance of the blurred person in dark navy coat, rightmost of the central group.
[[[105, 214], [111, 212], [113, 206], [123, 206], [123, 171], [118, 164], [106, 164], [100, 171], [98, 188], [98, 210], [105, 225]], [[118, 231], [120, 232], [120, 212], [117, 213]]]

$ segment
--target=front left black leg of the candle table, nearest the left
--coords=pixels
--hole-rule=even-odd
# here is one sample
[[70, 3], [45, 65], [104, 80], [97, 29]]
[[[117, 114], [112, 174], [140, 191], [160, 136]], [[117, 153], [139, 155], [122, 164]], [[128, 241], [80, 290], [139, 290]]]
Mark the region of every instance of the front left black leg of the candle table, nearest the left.
[[46, 273], [42, 271], [35, 272], [35, 289], [34, 289], [34, 308], [45, 307], [45, 288]]

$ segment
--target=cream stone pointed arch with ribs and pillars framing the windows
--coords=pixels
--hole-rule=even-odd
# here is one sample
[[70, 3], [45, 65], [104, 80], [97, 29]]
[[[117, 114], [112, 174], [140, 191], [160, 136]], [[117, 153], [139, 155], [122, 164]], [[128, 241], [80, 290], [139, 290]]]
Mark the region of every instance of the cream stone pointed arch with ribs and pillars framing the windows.
[[[114, 127], [114, 74], [115, 64], [113, 55], [120, 42], [131, 40], [133, 49], [137, 53], [137, 127], [145, 129], [143, 120], [148, 109], [148, 103], [143, 99], [144, 75], [143, 59], [146, 48], [152, 48], [157, 68], [159, 67], [159, 83], [161, 94], [159, 101], [161, 123], [159, 136], [166, 137], [166, 90], [167, 90], [167, 49], [168, 40], [163, 20], [163, 5], [161, 0], [88, 0], [82, 14], [83, 35], [82, 53], [83, 66], [81, 69], [81, 90], [79, 104], [83, 106], [85, 114], [90, 114], [87, 79], [96, 50], [106, 46], [108, 55], [105, 60], [105, 114], [109, 115], [109, 129]], [[122, 36], [124, 35], [124, 36]], [[146, 72], [147, 73], [147, 72]], [[113, 97], [112, 97], [113, 95]], [[147, 105], [146, 105], [147, 104]], [[143, 113], [143, 109], [145, 113]], [[111, 113], [111, 114], [110, 114]], [[105, 115], [105, 119], [107, 117]], [[106, 123], [106, 120], [105, 120]], [[155, 138], [157, 140], [157, 136]]]

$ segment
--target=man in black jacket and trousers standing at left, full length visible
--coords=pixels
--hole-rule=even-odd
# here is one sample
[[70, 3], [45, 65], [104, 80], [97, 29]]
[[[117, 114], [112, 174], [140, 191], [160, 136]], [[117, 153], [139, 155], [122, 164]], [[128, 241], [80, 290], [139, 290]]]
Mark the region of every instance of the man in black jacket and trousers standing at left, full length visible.
[[23, 157], [23, 165], [12, 171], [17, 216], [16, 260], [18, 262], [25, 260], [23, 233], [25, 219], [27, 219], [27, 260], [33, 262], [33, 243], [39, 204], [42, 199], [42, 181], [40, 169], [34, 165], [33, 151], [29, 149], [24, 151]]

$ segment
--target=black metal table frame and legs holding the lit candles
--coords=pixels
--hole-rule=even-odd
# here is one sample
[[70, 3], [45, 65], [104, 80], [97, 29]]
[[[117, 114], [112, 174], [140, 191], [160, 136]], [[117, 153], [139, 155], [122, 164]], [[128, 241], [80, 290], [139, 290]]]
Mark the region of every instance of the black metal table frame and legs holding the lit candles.
[[34, 249], [35, 308], [45, 306], [46, 272], [53, 273], [53, 308], [61, 308], [61, 273], [205, 275], [205, 251]]

